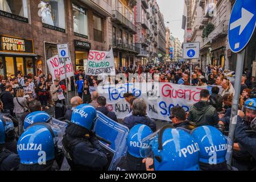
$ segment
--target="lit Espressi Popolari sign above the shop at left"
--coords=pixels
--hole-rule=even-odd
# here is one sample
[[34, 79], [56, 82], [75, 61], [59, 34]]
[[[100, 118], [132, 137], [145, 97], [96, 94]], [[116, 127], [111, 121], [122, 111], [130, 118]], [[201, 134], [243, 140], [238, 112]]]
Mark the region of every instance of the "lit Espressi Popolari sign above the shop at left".
[[33, 41], [30, 39], [15, 38], [11, 36], [0, 36], [0, 51], [34, 53]]

